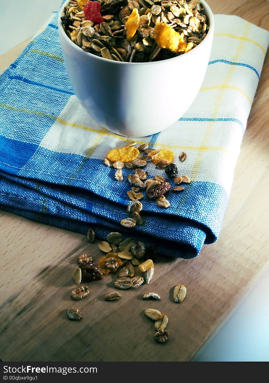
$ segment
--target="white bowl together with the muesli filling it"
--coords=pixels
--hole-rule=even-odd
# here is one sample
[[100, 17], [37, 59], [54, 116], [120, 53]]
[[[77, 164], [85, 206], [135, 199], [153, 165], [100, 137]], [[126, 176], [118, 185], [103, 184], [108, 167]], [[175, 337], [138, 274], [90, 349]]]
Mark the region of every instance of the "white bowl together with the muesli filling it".
[[168, 128], [191, 106], [214, 18], [203, 0], [67, 0], [58, 26], [80, 104], [110, 131], [139, 137]]

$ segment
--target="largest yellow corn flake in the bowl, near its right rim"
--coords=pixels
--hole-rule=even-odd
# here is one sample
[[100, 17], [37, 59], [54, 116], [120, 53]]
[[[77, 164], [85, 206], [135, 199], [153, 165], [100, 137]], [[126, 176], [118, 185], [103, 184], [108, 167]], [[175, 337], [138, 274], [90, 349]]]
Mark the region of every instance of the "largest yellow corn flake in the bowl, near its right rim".
[[153, 29], [153, 36], [160, 48], [169, 49], [174, 53], [179, 53], [186, 49], [184, 34], [179, 34], [166, 23], [157, 23]]

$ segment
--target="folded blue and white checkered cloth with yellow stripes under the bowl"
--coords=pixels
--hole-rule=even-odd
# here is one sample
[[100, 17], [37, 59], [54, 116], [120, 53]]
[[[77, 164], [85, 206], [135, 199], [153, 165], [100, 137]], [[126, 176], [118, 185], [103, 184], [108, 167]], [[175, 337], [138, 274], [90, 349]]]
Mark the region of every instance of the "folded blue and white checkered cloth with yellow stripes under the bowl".
[[[192, 182], [184, 192], [168, 193], [169, 209], [144, 199], [142, 226], [125, 229], [119, 222], [128, 216], [129, 170], [117, 182], [103, 158], [130, 139], [99, 126], [79, 105], [55, 12], [0, 76], [0, 208], [85, 234], [93, 227], [100, 238], [119, 231], [163, 254], [195, 257], [220, 232], [268, 42], [267, 31], [236, 16], [215, 15], [210, 62], [191, 108], [167, 130], [137, 139], [172, 149], [179, 175]], [[181, 151], [187, 153], [182, 163]], [[147, 170], [148, 177], [164, 173], [153, 165]]]

